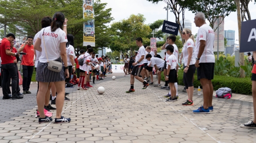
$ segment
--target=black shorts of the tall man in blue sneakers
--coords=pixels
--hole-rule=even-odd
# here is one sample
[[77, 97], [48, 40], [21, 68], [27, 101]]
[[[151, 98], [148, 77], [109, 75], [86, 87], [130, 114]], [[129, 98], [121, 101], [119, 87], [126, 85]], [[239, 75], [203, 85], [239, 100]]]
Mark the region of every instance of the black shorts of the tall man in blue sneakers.
[[197, 68], [197, 80], [208, 79], [213, 80], [214, 76], [214, 62], [199, 63]]

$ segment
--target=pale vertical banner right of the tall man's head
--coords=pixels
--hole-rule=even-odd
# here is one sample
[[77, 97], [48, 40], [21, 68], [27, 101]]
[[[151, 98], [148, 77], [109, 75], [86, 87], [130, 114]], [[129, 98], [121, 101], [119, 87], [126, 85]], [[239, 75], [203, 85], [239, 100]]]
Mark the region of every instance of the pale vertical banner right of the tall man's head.
[[[222, 22], [219, 25], [219, 52], [223, 52], [225, 50], [224, 47], [224, 19], [223, 17], [219, 17], [219, 22]], [[214, 23], [214, 29], [216, 29], [216, 27], [218, 26], [218, 19], [216, 19], [215, 23]], [[218, 30], [216, 29], [215, 31], [215, 38], [214, 38], [214, 48], [213, 51], [217, 51], [217, 47], [218, 47]]]

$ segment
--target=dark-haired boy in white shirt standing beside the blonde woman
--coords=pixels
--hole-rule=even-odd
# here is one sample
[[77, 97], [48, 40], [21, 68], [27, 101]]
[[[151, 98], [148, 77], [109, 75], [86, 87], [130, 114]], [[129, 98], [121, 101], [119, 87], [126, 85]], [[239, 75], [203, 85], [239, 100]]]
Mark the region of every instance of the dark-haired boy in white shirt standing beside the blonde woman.
[[169, 86], [170, 86], [170, 92], [171, 92], [171, 97], [169, 99], [166, 99], [166, 101], [177, 101], [176, 97], [176, 87], [174, 85], [175, 82], [177, 82], [177, 71], [178, 71], [178, 62], [177, 58], [173, 54], [174, 52], [174, 47], [173, 45], [168, 45], [166, 47], [166, 54], [170, 55], [167, 59], [167, 75], [165, 80], [169, 81]]

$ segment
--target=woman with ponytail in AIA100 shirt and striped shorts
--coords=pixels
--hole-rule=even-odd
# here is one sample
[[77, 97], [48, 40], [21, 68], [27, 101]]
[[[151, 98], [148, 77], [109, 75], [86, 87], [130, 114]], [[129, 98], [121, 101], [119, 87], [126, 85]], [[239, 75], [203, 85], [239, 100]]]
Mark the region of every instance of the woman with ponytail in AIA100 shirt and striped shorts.
[[[37, 106], [40, 113], [39, 123], [51, 122], [44, 113], [44, 99], [50, 82], [54, 82], [58, 97], [56, 98], [56, 118], [55, 123], [70, 122], [70, 118], [61, 116], [64, 96], [65, 96], [65, 76], [69, 77], [67, 66], [66, 43], [67, 36], [63, 31], [65, 16], [61, 12], [54, 13], [51, 26], [43, 28], [36, 39], [34, 49], [41, 52], [36, 69], [36, 81], [39, 82], [39, 91], [37, 93]], [[48, 61], [63, 62], [65, 71], [54, 72], [47, 68]]]

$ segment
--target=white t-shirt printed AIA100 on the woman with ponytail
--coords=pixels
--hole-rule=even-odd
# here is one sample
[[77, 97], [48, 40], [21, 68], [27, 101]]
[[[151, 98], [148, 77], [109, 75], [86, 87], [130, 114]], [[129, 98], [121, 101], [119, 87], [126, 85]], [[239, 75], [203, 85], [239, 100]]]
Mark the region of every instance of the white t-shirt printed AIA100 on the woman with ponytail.
[[[44, 41], [43, 41], [43, 31], [44, 31], [44, 41], [45, 41], [45, 47], [44, 47]], [[41, 45], [42, 46], [42, 52], [41, 56], [39, 57], [40, 62], [47, 62], [51, 60], [56, 60], [61, 56], [61, 49], [60, 44], [61, 43], [67, 43], [67, 36], [66, 33], [61, 30], [61, 28], [56, 29], [56, 31], [51, 31], [51, 26], [48, 26], [46, 28], [43, 28], [38, 38], [41, 39]], [[45, 48], [47, 51], [47, 56], [45, 54]]]

